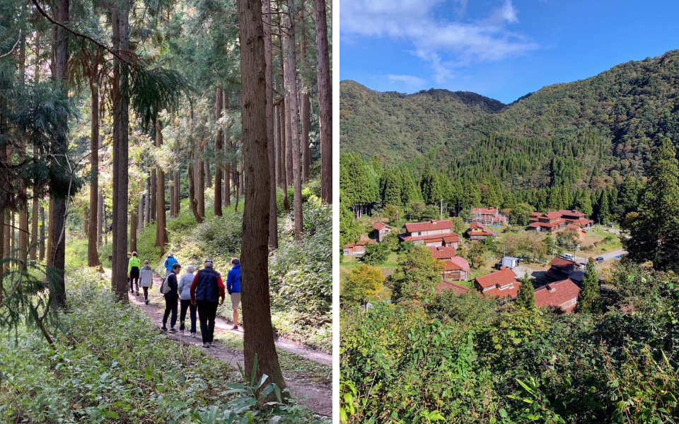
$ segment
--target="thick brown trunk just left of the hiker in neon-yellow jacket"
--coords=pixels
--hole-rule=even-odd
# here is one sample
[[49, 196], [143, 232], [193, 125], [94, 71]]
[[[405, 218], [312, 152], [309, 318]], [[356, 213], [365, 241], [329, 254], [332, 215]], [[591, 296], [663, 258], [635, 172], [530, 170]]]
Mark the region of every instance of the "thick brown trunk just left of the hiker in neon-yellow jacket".
[[[112, 8], [113, 48], [127, 60], [129, 50], [129, 20], [127, 2]], [[128, 73], [124, 64], [113, 59], [116, 90], [113, 97], [113, 249], [111, 287], [117, 300], [127, 298], [127, 161], [128, 161]]]

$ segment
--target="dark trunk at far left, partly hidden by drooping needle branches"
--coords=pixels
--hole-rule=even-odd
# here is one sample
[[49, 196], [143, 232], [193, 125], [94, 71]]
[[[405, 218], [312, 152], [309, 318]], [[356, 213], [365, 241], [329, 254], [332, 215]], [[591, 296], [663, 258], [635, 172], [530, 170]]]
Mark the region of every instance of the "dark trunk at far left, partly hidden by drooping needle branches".
[[[57, 21], [60, 23], [67, 23], [69, 21], [69, 0], [57, 0], [55, 2], [55, 11]], [[68, 79], [66, 73], [66, 64], [69, 61], [69, 36], [64, 28], [58, 27], [56, 30], [54, 54], [54, 81], [62, 90], [64, 97], [66, 97], [66, 80]], [[65, 112], [62, 116], [63, 121], [66, 122]], [[66, 134], [68, 129], [66, 125], [57, 126], [56, 137], [54, 139], [54, 146], [52, 152], [55, 160], [67, 170], [70, 168], [66, 162], [66, 155], [68, 154], [68, 139]], [[66, 307], [66, 287], [64, 285], [64, 266], [66, 265], [66, 238], [64, 234], [64, 225], [66, 222], [66, 201], [69, 193], [66, 190], [52, 194], [53, 198], [53, 212], [52, 220], [50, 220], [50, 232], [52, 233], [52, 250], [50, 251], [51, 264], [54, 266], [54, 302], [57, 306], [64, 309]]]

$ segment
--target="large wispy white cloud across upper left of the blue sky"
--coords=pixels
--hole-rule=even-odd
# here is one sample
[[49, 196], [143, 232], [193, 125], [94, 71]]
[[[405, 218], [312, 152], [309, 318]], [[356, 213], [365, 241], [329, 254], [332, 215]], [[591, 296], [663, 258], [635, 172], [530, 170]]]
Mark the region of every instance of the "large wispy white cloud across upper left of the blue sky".
[[[340, 37], [390, 37], [408, 42], [414, 49], [407, 51], [427, 62], [437, 83], [452, 78], [451, 69], [456, 66], [499, 61], [538, 48], [528, 37], [506, 30], [505, 25], [518, 23], [511, 0], [504, 0], [487, 18], [468, 23], [435, 18], [434, 8], [442, 3], [342, 0]], [[453, 4], [465, 11], [467, 0], [453, 0]]]

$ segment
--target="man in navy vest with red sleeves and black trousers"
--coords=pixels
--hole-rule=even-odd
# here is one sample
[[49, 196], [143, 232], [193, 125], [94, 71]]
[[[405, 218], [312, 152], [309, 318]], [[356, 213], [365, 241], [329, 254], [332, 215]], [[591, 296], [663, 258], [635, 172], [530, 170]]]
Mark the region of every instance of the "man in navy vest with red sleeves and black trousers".
[[204, 269], [196, 273], [191, 283], [191, 303], [197, 305], [203, 347], [209, 348], [214, 338], [217, 306], [224, 303], [226, 295], [224, 295], [221, 275], [212, 269], [212, 259], [206, 259], [203, 265]]

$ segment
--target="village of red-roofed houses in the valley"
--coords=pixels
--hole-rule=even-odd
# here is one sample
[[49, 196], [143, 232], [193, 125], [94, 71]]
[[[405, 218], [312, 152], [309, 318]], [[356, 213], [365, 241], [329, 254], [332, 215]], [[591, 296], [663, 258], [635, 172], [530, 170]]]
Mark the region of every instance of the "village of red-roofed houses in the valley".
[[[359, 241], [344, 245], [344, 257], [347, 261], [356, 261], [363, 256], [366, 245], [381, 243], [395, 231], [392, 226], [383, 222], [376, 222], [371, 228], [372, 232], [361, 235]], [[468, 218], [465, 219], [465, 230], [461, 232], [461, 237], [455, 232], [455, 225], [451, 219], [405, 223], [403, 229], [404, 232], [397, 234], [399, 243], [424, 245], [431, 252], [431, 257], [443, 262], [441, 282], [435, 288], [436, 295], [451, 290], [455, 295], [474, 291], [478, 295], [494, 296], [506, 301], [516, 300], [521, 285], [520, 279], [528, 275], [530, 282], [533, 283], [535, 305], [562, 313], [575, 310], [588, 259], [595, 261], [597, 266], [605, 267], [610, 266], [612, 261], [624, 253], [617, 237], [613, 236], [617, 235], [617, 230], [597, 229], [593, 220], [576, 210], [533, 212], [530, 214], [528, 225], [519, 230], [509, 228], [508, 217], [499, 213], [497, 208], [472, 208]], [[501, 234], [501, 230], [504, 230], [506, 235]], [[511, 232], [507, 232], [508, 230]], [[552, 241], [551, 251], [541, 255], [545, 259], [531, 254], [519, 254], [517, 257], [504, 254], [497, 257], [489, 252], [482, 257], [481, 265], [472, 269], [468, 260], [469, 255], [468, 258], [464, 257], [464, 252], [469, 252], [472, 245], [478, 243], [497, 242], [502, 237], [509, 240], [513, 234], [523, 233], [524, 237], [535, 239], [538, 237], [536, 233], [556, 236], [555, 233], [565, 231], [568, 231], [569, 237], [574, 239], [572, 254], [563, 252], [563, 249], [557, 248]], [[551, 240], [556, 238], [553, 237]], [[585, 249], [581, 250], [581, 247], [587, 246], [592, 240], [595, 241], [587, 247], [592, 254], [588, 254], [588, 257], [576, 256], [586, 254]], [[509, 245], [509, 242], [506, 245]], [[617, 250], [613, 250], [615, 247]], [[596, 252], [600, 252], [600, 255], [594, 257], [593, 254]], [[390, 267], [385, 266], [383, 272], [388, 274], [389, 271]], [[383, 299], [384, 297], [387, 296], [377, 296], [373, 301], [390, 302]], [[365, 306], [371, 307], [368, 304]]]

